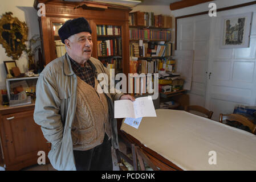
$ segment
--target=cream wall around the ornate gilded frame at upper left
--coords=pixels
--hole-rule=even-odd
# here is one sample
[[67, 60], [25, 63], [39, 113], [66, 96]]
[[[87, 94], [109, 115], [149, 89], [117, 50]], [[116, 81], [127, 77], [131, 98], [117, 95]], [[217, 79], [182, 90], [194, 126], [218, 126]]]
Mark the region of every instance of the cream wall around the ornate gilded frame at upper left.
[[[21, 22], [26, 22], [29, 28], [30, 39], [35, 34], [40, 34], [37, 11], [33, 7], [34, 0], [9, 0], [1, 1], [0, 15], [11, 11], [14, 17], [17, 17]], [[12, 60], [5, 53], [5, 48], [0, 44], [0, 89], [5, 89], [6, 71], [3, 61]], [[16, 64], [19, 67], [21, 73], [24, 73], [28, 69], [27, 55], [23, 52], [19, 60], [16, 60]]]

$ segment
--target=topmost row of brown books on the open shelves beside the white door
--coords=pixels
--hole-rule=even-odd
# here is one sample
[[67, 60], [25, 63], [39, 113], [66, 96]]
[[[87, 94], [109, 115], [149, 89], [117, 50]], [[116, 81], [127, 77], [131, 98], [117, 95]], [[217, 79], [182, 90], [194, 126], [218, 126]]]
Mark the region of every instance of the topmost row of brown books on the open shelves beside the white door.
[[172, 28], [172, 17], [154, 15], [153, 12], [136, 11], [129, 14], [129, 26]]

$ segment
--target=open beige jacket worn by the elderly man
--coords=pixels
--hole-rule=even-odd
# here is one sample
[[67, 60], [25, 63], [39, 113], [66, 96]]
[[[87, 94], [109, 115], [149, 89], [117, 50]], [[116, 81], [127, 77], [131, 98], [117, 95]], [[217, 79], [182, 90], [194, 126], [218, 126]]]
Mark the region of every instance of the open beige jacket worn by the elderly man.
[[[107, 73], [109, 78], [107, 68], [99, 60], [91, 57], [90, 63], [96, 75]], [[66, 53], [47, 64], [36, 84], [34, 120], [41, 126], [44, 137], [52, 144], [48, 158], [52, 166], [58, 170], [76, 170], [71, 127], [76, 111], [77, 82]], [[106, 94], [114, 148], [119, 146], [113, 100], [119, 100], [122, 95]]]

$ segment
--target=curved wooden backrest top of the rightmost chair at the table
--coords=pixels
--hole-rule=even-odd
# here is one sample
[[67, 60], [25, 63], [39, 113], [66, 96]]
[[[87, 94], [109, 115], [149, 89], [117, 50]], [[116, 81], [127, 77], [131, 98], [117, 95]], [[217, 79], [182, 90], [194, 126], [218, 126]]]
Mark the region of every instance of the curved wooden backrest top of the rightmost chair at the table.
[[256, 125], [252, 121], [250, 121], [250, 119], [246, 118], [241, 114], [220, 114], [219, 121], [223, 123], [224, 120], [237, 121], [241, 123], [243, 126], [249, 127], [251, 133], [255, 134]]

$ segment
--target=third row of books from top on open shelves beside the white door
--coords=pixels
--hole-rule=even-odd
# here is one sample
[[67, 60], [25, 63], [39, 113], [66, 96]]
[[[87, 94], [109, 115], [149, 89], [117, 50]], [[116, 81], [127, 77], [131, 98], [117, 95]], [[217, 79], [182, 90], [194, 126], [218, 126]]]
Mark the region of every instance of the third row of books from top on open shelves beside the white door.
[[172, 56], [172, 43], [155, 45], [150, 42], [143, 43], [139, 46], [138, 43], [129, 45], [129, 55], [133, 57], [164, 57]]

